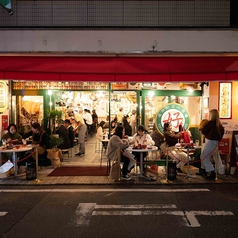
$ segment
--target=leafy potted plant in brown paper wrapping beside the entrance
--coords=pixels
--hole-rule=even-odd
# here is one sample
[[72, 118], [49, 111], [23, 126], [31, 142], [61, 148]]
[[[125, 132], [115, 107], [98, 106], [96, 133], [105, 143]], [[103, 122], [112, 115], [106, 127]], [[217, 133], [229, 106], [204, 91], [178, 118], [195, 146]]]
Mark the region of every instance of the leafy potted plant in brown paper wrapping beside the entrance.
[[58, 148], [58, 146], [63, 142], [61, 137], [57, 137], [55, 135], [50, 135], [49, 139], [49, 148], [47, 150], [47, 158], [51, 160], [53, 168], [60, 167], [60, 160], [62, 158], [62, 151]]

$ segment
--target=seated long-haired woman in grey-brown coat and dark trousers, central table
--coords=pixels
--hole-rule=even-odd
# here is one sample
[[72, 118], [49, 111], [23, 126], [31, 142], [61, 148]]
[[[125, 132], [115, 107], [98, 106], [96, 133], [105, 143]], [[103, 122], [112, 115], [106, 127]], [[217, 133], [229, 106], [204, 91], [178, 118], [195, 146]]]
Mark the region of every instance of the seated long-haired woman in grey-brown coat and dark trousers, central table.
[[[119, 160], [118, 150], [123, 150], [130, 145], [128, 140], [125, 140], [125, 139], [122, 140], [123, 130], [124, 130], [123, 126], [118, 125], [115, 129], [113, 136], [110, 138], [108, 142], [108, 146], [107, 146], [107, 152], [106, 152], [108, 160], [111, 160], [111, 161]], [[124, 156], [122, 153], [121, 153], [121, 162], [123, 162], [121, 179], [130, 180], [131, 177], [128, 174], [130, 172], [128, 170], [128, 165], [130, 163], [130, 160], [126, 156]]]

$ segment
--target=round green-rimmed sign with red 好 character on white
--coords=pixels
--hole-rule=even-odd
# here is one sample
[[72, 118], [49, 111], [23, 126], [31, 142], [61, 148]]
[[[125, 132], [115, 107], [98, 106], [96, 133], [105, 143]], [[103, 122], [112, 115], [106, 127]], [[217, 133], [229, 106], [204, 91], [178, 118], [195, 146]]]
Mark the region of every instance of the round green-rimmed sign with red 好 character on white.
[[158, 131], [164, 133], [164, 123], [170, 122], [173, 131], [179, 131], [181, 125], [184, 130], [188, 130], [190, 126], [190, 116], [188, 111], [178, 103], [168, 103], [156, 114], [156, 127]]

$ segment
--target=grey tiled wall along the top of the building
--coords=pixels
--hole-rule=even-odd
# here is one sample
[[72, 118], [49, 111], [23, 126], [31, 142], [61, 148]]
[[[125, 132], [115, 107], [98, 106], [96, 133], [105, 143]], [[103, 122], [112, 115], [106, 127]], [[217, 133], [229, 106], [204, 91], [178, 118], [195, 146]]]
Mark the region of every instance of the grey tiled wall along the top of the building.
[[1, 27], [229, 27], [230, 0], [12, 0]]

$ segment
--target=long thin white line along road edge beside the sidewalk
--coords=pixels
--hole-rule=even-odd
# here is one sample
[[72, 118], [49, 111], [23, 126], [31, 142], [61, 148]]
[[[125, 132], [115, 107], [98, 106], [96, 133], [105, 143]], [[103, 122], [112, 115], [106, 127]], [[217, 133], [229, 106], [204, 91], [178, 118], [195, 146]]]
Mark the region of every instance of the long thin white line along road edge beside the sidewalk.
[[104, 192], [149, 192], [149, 193], [188, 193], [209, 192], [207, 188], [197, 189], [0, 189], [1, 193], [104, 193]]

